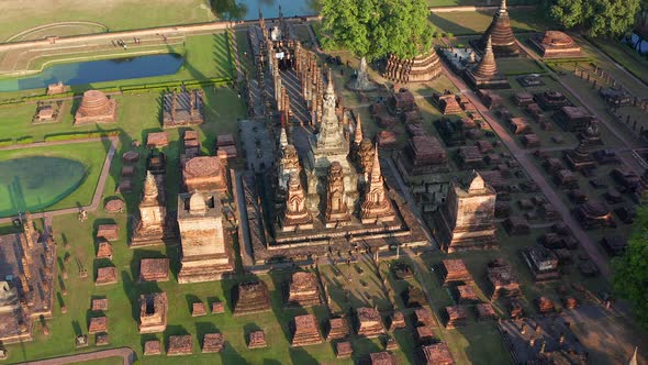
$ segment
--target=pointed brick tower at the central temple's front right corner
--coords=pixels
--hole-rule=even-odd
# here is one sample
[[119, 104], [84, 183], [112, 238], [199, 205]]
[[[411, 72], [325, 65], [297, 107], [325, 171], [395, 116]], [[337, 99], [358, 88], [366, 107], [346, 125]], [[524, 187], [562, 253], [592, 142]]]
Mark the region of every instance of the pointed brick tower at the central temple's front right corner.
[[367, 181], [367, 191], [365, 201], [362, 201], [360, 218], [365, 224], [379, 220], [392, 221], [395, 219], [393, 207], [384, 189], [384, 180], [378, 158], [378, 146], [376, 146], [373, 152], [373, 164]]

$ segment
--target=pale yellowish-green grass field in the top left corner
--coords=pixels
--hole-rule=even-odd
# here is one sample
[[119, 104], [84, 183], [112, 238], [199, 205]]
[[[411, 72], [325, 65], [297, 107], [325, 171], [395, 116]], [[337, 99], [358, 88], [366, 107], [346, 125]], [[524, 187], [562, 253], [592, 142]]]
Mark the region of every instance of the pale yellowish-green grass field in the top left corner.
[[[154, 27], [214, 20], [206, 0], [46, 0], [0, 1], [0, 42], [20, 32], [51, 23], [66, 21], [91, 21], [105, 25], [110, 31]], [[38, 36], [82, 34], [87, 25], [53, 27], [52, 33], [37, 32]], [[60, 32], [60, 33], [59, 33]]]

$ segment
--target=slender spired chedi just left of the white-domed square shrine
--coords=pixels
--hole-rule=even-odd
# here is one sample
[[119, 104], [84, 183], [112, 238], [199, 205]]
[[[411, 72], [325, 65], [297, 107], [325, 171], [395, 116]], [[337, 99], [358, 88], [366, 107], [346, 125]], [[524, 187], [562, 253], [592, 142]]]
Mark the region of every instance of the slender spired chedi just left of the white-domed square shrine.
[[[163, 175], [157, 175], [157, 179]], [[131, 240], [132, 246], [142, 246], [157, 244], [163, 242], [165, 236], [165, 225], [167, 209], [165, 203], [164, 189], [159, 189], [160, 184], [156, 177], [146, 172], [144, 181], [144, 192], [139, 202], [139, 220], [135, 224], [135, 231]]]

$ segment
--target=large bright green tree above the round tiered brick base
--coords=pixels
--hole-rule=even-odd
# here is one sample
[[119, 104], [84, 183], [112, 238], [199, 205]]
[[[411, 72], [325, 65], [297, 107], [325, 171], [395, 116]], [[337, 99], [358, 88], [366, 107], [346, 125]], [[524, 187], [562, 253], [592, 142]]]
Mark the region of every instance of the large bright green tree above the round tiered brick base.
[[359, 57], [389, 54], [412, 58], [429, 51], [433, 26], [424, 0], [322, 0], [324, 47], [339, 46]]

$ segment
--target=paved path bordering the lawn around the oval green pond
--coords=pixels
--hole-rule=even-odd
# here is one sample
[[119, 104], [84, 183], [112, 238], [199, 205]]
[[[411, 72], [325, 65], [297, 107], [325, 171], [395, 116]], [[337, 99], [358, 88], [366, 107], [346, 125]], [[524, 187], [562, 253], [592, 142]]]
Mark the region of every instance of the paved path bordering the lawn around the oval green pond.
[[[96, 211], [99, 208], [99, 203], [101, 202], [101, 197], [103, 196], [103, 188], [105, 187], [105, 180], [108, 179], [110, 173], [110, 166], [112, 163], [112, 157], [114, 156], [118, 147], [118, 143], [120, 142], [119, 137], [107, 137], [107, 139], [83, 139], [83, 140], [72, 140], [72, 141], [53, 141], [53, 142], [38, 142], [38, 143], [31, 143], [25, 145], [19, 146], [10, 146], [10, 147], [2, 147], [2, 150], [24, 150], [24, 148], [33, 148], [33, 147], [43, 147], [43, 146], [56, 146], [63, 144], [77, 144], [77, 143], [88, 143], [88, 142], [99, 142], [109, 140], [111, 142], [110, 150], [105, 155], [105, 159], [103, 162], [103, 168], [101, 169], [101, 175], [99, 176], [99, 181], [97, 182], [97, 187], [94, 189], [94, 196], [92, 197], [92, 202], [90, 206], [82, 207], [83, 210], [91, 212]], [[59, 209], [59, 210], [52, 210], [46, 212], [40, 213], [32, 213], [33, 218], [45, 218], [51, 219], [53, 215], [63, 215], [63, 214], [71, 214], [78, 213], [80, 208], [67, 208], [67, 209]], [[2, 223], [11, 223], [14, 217], [8, 217], [0, 219], [0, 224]]]

